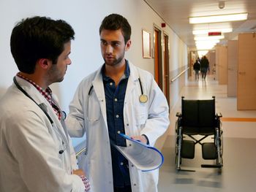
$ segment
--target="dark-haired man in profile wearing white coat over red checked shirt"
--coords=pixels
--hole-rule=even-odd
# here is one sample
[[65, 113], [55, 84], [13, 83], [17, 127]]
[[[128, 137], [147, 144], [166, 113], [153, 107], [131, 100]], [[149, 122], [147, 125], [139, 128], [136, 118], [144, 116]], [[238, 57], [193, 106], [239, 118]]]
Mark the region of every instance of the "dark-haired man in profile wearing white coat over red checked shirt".
[[74, 35], [64, 20], [45, 17], [26, 18], [12, 30], [11, 51], [20, 72], [0, 100], [1, 192], [89, 190], [48, 87], [64, 79]]

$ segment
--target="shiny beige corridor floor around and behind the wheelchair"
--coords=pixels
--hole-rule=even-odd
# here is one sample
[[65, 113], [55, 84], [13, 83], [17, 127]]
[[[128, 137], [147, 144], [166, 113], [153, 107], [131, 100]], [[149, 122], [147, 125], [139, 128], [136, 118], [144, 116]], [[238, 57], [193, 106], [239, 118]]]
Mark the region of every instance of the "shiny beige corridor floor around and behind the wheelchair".
[[196, 172], [176, 172], [175, 122], [181, 112], [179, 100], [170, 112], [170, 129], [162, 147], [165, 163], [159, 173], [159, 192], [255, 192], [256, 191], [256, 110], [236, 110], [236, 98], [227, 98], [227, 85], [218, 85], [211, 76], [206, 80], [190, 80], [181, 91], [187, 99], [209, 99], [216, 96], [216, 111], [223, 115], [224, 140], [222, 173], [218, 169], [201, 168], [203, 160], [200, 145], [196, 145], [194, 159], [182, 159], [184, 169]]

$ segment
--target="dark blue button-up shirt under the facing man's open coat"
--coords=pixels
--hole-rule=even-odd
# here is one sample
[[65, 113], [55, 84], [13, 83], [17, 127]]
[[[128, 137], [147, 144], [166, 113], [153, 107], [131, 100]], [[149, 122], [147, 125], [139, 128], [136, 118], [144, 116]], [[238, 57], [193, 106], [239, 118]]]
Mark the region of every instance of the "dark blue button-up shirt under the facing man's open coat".
[[[124, 76], [121, 77], [118, 85], [105, 75], [105, 65], [102, 66], [102, 77], [105, 90], [108, 134], [113, 144], [126, 147], [125, 139], [119, 136], [124, 131], [124, 97], [129, 78], [129, 64], [126, 61]], [[111, 156], [113, 166], [113, 185], [122, 188], [130, 184], [128, 161], [121, 153], [111, 145]]]

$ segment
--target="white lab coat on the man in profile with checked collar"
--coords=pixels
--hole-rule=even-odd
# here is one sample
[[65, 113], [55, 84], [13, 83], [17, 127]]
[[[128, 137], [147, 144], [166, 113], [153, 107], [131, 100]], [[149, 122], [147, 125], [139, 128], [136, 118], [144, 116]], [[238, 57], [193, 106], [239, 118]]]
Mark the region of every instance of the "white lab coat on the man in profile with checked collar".
[[14, 84], [7, 90], [0, 100], [0, 191], [84, 191], [80, 177], [71, 174], [77, 164], [67, 128], [31, 83], [16, 80], [54, 123]]

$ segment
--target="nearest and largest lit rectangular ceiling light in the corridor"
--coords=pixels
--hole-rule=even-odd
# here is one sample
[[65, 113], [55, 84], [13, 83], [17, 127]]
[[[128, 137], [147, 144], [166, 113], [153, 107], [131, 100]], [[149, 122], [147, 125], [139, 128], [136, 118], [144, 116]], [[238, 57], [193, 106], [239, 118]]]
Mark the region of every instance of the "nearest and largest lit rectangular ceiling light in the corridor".
[[246, 20], [248, 13], [238, 13], [238, 14], [229, 14], [229, 15], [211, 15], [203, 17], [189, 18], [189, 23], [218, 23], [226, 22], [233, 20]]

